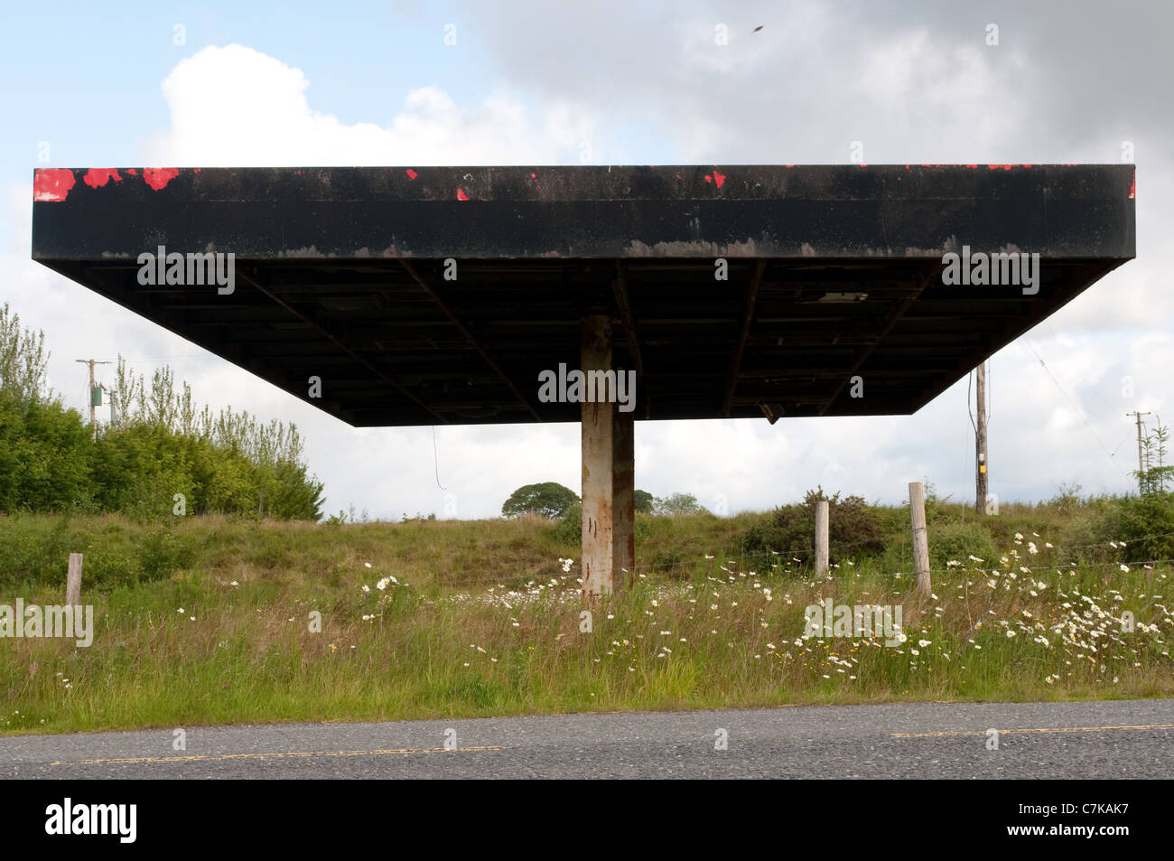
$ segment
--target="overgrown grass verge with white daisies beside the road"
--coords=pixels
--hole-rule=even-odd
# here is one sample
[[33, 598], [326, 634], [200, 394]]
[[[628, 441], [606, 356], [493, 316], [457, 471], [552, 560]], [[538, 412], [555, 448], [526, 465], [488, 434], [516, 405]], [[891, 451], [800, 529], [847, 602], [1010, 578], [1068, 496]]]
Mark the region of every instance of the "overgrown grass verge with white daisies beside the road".
[[[1006, 563], [973, 563], [960, 509], [938, 507], [931, 545], [949, 534], [964, 564], [939, 564], [924, 601], [902, 531], [812, 581], [783, 556], [741, 556], [761, 516], [641, 517], [643, 576], [594, 610], [592, 633], [578, 565], [559, 563], [578, 546], [544, 520], [0, 517], [0, 603], [61, 603], [80, 550], [97, 628], [89, 648], [0, 639], [0, 732], [1174, 693], [1167, 565], [1047, 549], [1079, 512], [1046, 506], [987, 518], [973, 540]], [[386, 577], [398, 583], [379, 590]], [[821, 599], [899, 604], [909, 641], [804, 640]]]

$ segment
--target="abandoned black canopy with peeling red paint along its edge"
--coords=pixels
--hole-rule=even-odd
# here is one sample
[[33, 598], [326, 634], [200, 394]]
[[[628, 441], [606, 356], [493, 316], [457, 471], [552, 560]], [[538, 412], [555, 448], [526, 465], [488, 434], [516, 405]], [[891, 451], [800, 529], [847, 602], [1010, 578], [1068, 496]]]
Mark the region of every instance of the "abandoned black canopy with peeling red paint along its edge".
[[[1134, 244], [1128, 164], [42, 169], [33, 206], [34, 260], [360, 426], [576, 422], [539, 375], [596, 314], [640, 419], [910, 413]], [[944, 284], [964, 245], [1038, 291]], [[232, 291], [141, 284], [160, 247]]]

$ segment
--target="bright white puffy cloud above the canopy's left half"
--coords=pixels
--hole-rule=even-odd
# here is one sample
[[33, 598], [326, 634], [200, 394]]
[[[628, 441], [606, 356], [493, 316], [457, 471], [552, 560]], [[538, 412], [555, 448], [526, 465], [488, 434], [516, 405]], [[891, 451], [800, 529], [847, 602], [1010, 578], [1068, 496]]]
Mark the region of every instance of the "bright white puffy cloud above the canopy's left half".
[[589, 137], [592, 115], [554, 101], [528, 109], [507, 95], [458, 107], [444, 90], [411, 90], [387, 127], [346, 125], [310, 107], [299, 69], [242, 45], [208, 47], [163, 80], [171, 127], [144, 163], [183, 167], [297, 164], [529, 164], [558, 161]]

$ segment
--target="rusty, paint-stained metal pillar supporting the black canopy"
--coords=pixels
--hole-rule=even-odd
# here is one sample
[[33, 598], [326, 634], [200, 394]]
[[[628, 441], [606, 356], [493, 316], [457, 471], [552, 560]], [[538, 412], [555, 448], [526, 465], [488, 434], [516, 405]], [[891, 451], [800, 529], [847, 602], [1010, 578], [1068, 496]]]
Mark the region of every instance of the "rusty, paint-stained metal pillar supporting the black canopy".
[[[585, 317], [581, 370], [612, 370], [612, 318]], [[582, 594], [623, 588], [635, 561], [633, 412], [614, 401], [582, 403]], [[627, 569], [627, 574], [625, 573]]]

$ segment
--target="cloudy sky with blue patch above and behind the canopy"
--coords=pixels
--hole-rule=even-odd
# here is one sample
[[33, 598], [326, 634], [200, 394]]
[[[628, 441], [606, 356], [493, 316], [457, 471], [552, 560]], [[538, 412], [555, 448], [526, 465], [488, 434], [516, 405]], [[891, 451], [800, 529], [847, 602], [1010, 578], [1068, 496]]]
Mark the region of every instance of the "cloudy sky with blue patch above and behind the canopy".
[[[578, 492], [579, 426], [350, 428], [33, 263], [35, 168], [837, 164], [853, 142], [870, 164], [1134, 161], [1136, 260], [991, 359], [991, 491], [1127, 492], [1127, 413], [1174, 422], [1172, 5], [0, 5], [0, 303], [45, 331], [53, 388], [85, 410], [75, 359], [170, 364], [202, 403], [295, 423], [325, 513]], [[637, 422], [636, 486], [720, 513], [816, 485], [896, 504], [912, 480], [973, 504], [967, 384], [913, 416]]]

